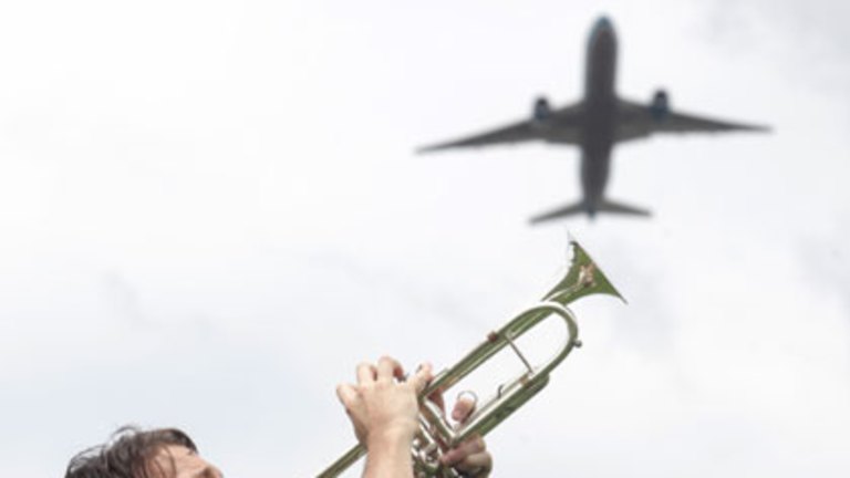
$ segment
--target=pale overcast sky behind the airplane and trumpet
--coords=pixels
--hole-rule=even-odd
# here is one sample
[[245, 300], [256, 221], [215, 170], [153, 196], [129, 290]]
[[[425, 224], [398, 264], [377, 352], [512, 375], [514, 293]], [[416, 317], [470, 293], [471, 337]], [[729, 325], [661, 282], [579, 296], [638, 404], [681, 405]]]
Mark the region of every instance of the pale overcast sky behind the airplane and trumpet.
[[[357, 362], [450, 365], [560, 278], [568, 231], [629, 303], [576, 302], [584, 346], [487, 437], [494, 477], [847, 476], [849, 10], [3, 4], [0, 476], [125, 424], [312, 476], [353, 445]], [[413, 153], [578, 100], [601, 14], [622, 96], [774, 133], [622, 145], [608, 194], [652, 219], [540, 227], [577, 149]]]

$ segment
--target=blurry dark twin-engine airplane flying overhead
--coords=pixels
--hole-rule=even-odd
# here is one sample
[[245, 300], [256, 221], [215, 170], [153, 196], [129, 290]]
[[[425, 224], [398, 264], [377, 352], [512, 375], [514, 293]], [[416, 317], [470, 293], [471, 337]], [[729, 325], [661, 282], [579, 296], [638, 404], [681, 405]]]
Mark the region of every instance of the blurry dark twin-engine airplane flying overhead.
[[671, 110], [670, 95], [657, 90], [649, 104], [624, 100], [614, 87], [616, 34], [607, 17], [597, 20], [587, 51], [584, 97], [578, 103], [552, 108], [545, 96], [532, 105], [531, 117], [460, 139], [424, 146], [417, 153], [450, 148], [490, 146], [524, 142], [574, 145], [581, 148], [582, 198], [573, 204], [540, 214], [531, 224], [598, 212], [650, 216], [647, 209], [609, 199], [605, 185], [611, 173], [611, 150], [616, 143], [643, 138], [655, 133], [769, 132], [760, 125], [730, 123]]

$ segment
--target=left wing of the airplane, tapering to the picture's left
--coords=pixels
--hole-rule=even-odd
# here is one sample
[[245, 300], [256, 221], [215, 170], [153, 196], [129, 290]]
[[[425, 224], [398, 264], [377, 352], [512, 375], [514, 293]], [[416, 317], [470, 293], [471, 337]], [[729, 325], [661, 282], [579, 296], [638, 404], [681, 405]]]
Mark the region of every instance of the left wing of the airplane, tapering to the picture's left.
[[580, 108], [579, 104], [574, 104], [560, 110], [552, 110], [551, 112], [546, 111], [527, 121], [459, 139], [423, 146], [417, 148], [416, 152], [431, 153], [458, 147], [505, 145], [532, 141], [578, 144]]

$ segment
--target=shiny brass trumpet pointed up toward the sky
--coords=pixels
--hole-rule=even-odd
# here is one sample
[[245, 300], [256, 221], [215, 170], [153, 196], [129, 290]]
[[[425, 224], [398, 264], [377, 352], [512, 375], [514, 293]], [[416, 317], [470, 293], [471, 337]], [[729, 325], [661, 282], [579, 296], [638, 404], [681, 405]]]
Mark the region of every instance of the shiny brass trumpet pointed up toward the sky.
[[[485, 341], [467, 353], [450, 368], [437, 373], [419, 395], [419, 430], [411, 446], [417, 478], [459, 478], [453, 468], [444, 467], [439, 457], [471, 436], [484, 437], [508, 416], [537, 395], [549, 383], [549, 374], [574, 347], [581, 346], [576, 316], [567, 304], [590, 294], [623, 297], [604, 273], [574, 240], [570, 241], [572, 261], [566, 276], [535, 305], [515, 316], [501, 329], [487, 334]], [[548, 318], [558, 316], [567, 328], [567, 341], [546, 363], [532, 366], [516, 345], [516, 339]], [[514, 381], [501, 384], [494, 396], [483, 404], [466, 422], [453, 426], [443, 409], [429, 397], [452, 388], [460, 380], [505, 347], [510, 347], [522, 361], [526, 371]], [[334, 478], [365, 455], [362, 445], [355, 445], [319, 478]]]

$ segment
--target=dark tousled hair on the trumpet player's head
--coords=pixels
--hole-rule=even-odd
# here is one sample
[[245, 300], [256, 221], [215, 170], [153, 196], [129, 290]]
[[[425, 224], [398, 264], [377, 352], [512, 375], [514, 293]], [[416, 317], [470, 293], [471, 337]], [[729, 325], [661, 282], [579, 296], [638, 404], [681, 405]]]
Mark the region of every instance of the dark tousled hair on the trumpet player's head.
[[151, 459], [163, 447], [179, 445], [197, 453], [188, 435], [177, 428], [141, 430], [122, 427], [104, 445], [71, 458], [65, 478], [151, 478]]

